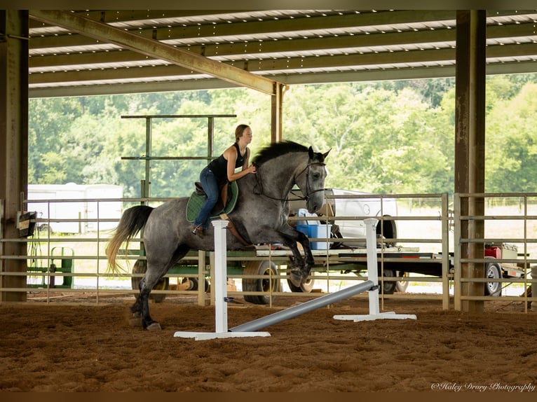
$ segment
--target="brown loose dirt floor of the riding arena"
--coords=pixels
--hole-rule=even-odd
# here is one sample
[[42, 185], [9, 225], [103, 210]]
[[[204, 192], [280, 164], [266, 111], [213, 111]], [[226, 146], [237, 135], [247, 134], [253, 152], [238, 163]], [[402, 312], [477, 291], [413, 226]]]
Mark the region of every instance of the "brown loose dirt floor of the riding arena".
[[[229, 328], [306, 301], [280, 299], [230, 305]], [[267, 338], [193, 340], [173, 335], [215, 331], [215, 317], [191, 298], [151, 304], [162, 331], [129, 325], [133, 296], [58, 300], [0, 305], [1, 391], [537, 391], [537, 312], [518, 301], [463, 314], [390, 299], [384, 310], [417, 319], [333, 319], [369, 312], [352, 298], [264, 328]]]

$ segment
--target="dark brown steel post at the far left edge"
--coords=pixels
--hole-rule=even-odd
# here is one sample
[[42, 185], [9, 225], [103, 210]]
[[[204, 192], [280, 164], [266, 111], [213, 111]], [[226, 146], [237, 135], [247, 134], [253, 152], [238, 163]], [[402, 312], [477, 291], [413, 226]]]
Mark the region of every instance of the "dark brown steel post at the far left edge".
[[[28, 187], [28, 11], [0, 10], [0, 237], [20, 236], [20, 194]], [[0, 255], [25, 256], [25, 242], [1, 242]], [[27, 261], [0, 263], [0, 289], [26, 288]], [[16, 275], [20, 273], [21, 275]], [[15, 274], [15, 275], [9, 275]], [[1, 291], [0, 301], [26, 301], [26, 291]]]

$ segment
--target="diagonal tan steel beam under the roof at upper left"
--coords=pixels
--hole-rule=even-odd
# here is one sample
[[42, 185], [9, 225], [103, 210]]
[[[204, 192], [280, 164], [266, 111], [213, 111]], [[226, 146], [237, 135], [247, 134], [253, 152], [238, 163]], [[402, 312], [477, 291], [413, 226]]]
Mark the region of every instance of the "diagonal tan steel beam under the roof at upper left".
[[178, 66], [209, 74], [236, 85], [259, 90], [269, 95], [276, 95], [276, 81], [272, 81], [269, 78], [252, 74], [228, 64], [215, 62], [187, 50], [132, 34], [75, 13], [57, 10], [32, 10], [30, 15], [36, 20], [59, 25], [100, 41], [114, 43], [155, 59], [167, 60]]

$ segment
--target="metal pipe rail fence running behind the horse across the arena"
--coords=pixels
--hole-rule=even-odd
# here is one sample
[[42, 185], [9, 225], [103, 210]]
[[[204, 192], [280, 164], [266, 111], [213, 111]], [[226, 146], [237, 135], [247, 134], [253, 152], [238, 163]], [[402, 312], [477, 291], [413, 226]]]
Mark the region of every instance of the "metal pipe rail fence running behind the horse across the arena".
[[[479, 196], [487, 200], [490, 212], [485, 216], [462, 216], [460, 214], [461, 197]], [[381, 212], [375, 216], [379, 219], [378, 228], [379, 244], [379, 270], [382, 286], [390, 287], [394, 283], [397, 289], [402, 289], [401, 284], [409, 284], [404, 292], [393, 294], [381, 294], [381, 302], [388, 298], [400, 299], [421, 299], [441, 301], [444, 310], [451, 306], [459, 309], [462, 300], [498, 300], [491, 296], [466, 296], [463, 295], [463, 286], [468, 282], [501, 282], [503, 289], [519, 289], [517, 296], [507, 296], [505, 291], [503, 298], [508, 300], [524, 300], [529, 302], [536, 300], [525, 292], [531, 280], [528, 277], [531, 264], [536, 260], [531, 256], [537, 256], [537, 241], [534, 238], [536, 232], [537, 209], [536, 194], [502, 194], [502, 195], [455, 195], [454, 210], [449, 209], [449, 199], [447, 194], [405, 194], [405, 195], [327, 195], [326, 205], [338, 202], [341, 199], [352, 199], [356, 202], [377, 202], [381, 205]], [[108, 228], [116, 223], [117, 219], [109, 216], [99, 216], [101, 202], [121, 202], [123, 210], [144, 202], [146, 205], [157, 206], [168, 199], [106, 199], [106, 200], [84, 200], [93, 202], [96, 207], [96, 215], [92, 218], [69, 218], [55, 219], [65, 221], [86, 228], [95, 230], [84, 230], [78, 234], [54, 233], [50, 230], [39, 231], [36, 229], [34, 235], [29, 237], [18, 237], [14, 239], [0, 239], [1, 249], [8, 242], [25, 242], [27, 244], [27, 255], [8, 256], [2, 252], [0, 255], [0, 265], [2, 261], [22, 260], [26, 261], [27, 269], [22, 272], [0, 272], [0, 292], [27, 292], [35, 296], [36, 293], [46, 303], [54, 300], [56, 295], [76, 293], [93, 293], [95, 296], [90, 303], [101, 303], [104, 298], [113, 295], [134, 295], [137, 290], [132, 289], [132, 279], [142, 277], [141, 273], [132, 273], [132, 265], [136, 261], [144, 261], [143, 254], [140, 254], [140, 239], [130, 243], [130, 254], [118, 256], [120, 263], [128, 272], [121, 275], [111, 275], [107, 272], [107, 261], [104, 250], [111, 237], [112, 229], [99, 230], [102, 223], [106, 223]], [[383, 203], [397, 203], [397, 213], [386, 216], [383, 213]], [[76, 200], [75, 200], [76, 201]], [[25, 201], [27, 202], [27, 201]], [[32, 200], [32, 202], [36, 202]], [[62, 202], [74, 202], [74, 200], [39, 200], [39, 202], [54, 203], [55, 207]], [[337, 205], [337, 204], [336, 204]], [[26, 207], [22, 207], [23, 210]], [[57, 208], [61, 210], [60, 208]], [[499, 214], [497, 211], [502, 213]], [[517, 211], [514, 213], [512, 211]], [[373, 212], [374, 213], [374, 212]], [[335, 214], [326, 210], [318, 217], [308, 217], [308, 220], [318, 220], [322, 223], [337, 225], [341, 221], [360, 222], [372, 215], [362, 216], [341, 216], [336, 208]], [[303, 218], [291, 216], [290, 221], [296, 223]], [[482, 219], [491, 221], [494, 225], [487, 223], [487, 237], [482, 239], [462, 239], [460, 236], [461, 225], [468, 225], [469, 221]], [[395, 222], [397, 235], [386, 237], [383, 228], [386, 223]], [[498, 226], [498, 222], [505, 223]], [[36, 224], [41, 227], [53, 227], [53, 223], [48, 219], [37, 217]], [[507, 226], [506, 226], [507, 225]], [[511, 227], [512, 226], [512, 227]], [[507, 230], [507, 228], [509, 230]], [[456, 240], [454, 240], [456, 239]], [[350, 286], [355, 281], [364, 281], [365, 274], [365, 249], [364, 256], [360, 256], [360, 249], [337, 248], [330, 249], [334, 243], [355, 243], [360, 242], [363, 237], [318, 237], [311, 239], [314, 242], [325, 242], [326, 246], [315, 251], [315, 268], [313, 269], [311, 280], [314, 281], [313, 293], [293, 292], [287, 288], [286, 259], [285, 251], [273, 250], [266, 247], [264, 252], [253, 253], [233, 253], [229, 252], [228, 277], [238, 285], [238, 290], [229, 289], [229, 296], [266, 296], [268, 303], [271, 303], [273, 296], [322, 296], [322, 294], [336, 291], [344, 286]], [[461, 264], [465, 263], [485, 263], [485, 258], [468, 259], [461, 258], [461, 245], [470, 242], [510, 242], [515, 244], [520, 254], [523, 254], [522, 261], [515, 261], [521, 264], [524, 270], [524, 277], [521, 278], [463, 278], [461, 277]], [[184, 258], [188, 266], [182, 266], [178, 270], [166, 275], [170, 286], [168, 289], [154, 290], [155, 295], [169, 296], [196, 296], [197, 303], [204, 304], [207, 294], [205, 293], [205, 280], [210, 281], [211, 276], [210, 253], [191, 253]], [[267, 275], [246, 274], [243, 272], [244, 263], [247, 261], [266, 261], [278, 266], [278, 272], [274, 274], [268, 270]], [[513, 263], [513, 261], [499, 261], [500, 263]], [[360, 268], [363, 265], [363, 270]], [[3, 265], [2, 265], [3, 266]], [[198, 266], [201, 267], [198, 270]], [[395, 268], [394, 268], [395, 267]], [[423, 273], [433, 270], [434, 274]], [[422, 273], [420, 273], [422, 272]], [[4, 279], [7, 277], [20, 277], [20, 286], [4, 286]], [[187, 286], [191, 279], [198, 284], [198, 290], [188, 290]], [[277, 281], [280, 286], [267, 286], [266, 289], [245, 290], [240, 289], [240, 282], [244, 279], [258, 279], [259, 282], [268, 279], [269, 282]], [[238, 281], [238, 283], [237, 283]], [[287, 287], [289, 287], [287, 285]], [[412, 289], [419, 289], [413, 291]], [[296, 289], [295, 289], [296, 290]], [[521, 296], [526, 293], [525, 296]], [[512, 292], [511, 292], [512, 294]], [[355, 296], [367, 297], [367, 296]], [[383, 307], [383, 306], [382, 306]]]

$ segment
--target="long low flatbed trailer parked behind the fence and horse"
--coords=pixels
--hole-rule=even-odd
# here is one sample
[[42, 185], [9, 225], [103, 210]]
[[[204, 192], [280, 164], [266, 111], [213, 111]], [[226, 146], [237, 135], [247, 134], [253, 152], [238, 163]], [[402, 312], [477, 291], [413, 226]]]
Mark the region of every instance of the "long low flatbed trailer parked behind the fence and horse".
[[[205, 261], [209, 261], [209, 253], [205, 253]], [[354, 273], [360, 275], [367, 272], [367, 255], [365, 249], [326, 249], [312, 250], [315, 265], [311, 270], [311, 276], [300, 287], [294, 286], [289, 280], [287, 285], [292, 292], [308, 293], [313, 290], [315, 274], [322, 272], [339, 272], [341, 274]], [[242, 278], [243, 291], [247, 292], [273, 292], [280, 291], [280, 279], [278, 265], [287, 265], [292, 256], [290, 249], [272, 249], [269, 246], [259, 246], [252, 251], [227, 251], [227, 272], [229, 275], [252, 275]], [[402, 247], [390, 247], [381, 250], [379, 256], [379, 277], [388, 279], [398, 277], [402, 272], [418, 272], [430, 275], [429, 272], [442, 272], [442, 259], [432, 253], [420, 253], [416, 249], [404, 249]], [[181, 277], [182, 290], [196, 291], [199, 289], [198, 252], [190, 251], [189, 254], [179, 261], [168, 271], [163, 280], [154, 288], [156, 290], [170, 289], [170, 277]], [[435, 266], [435, 269], [430, 268]], [[405, 270], [402, 270], [405, 268]], [[205, 268], [205, 290], [210, 286], [208, 278], [210, 272]], [[132, 289], [138, 289], [140, 277], [145, 272], [145, 261], [137, 260], [132, 270]], [[262, 275], [263, 277], [259, 277]], [[257, 277], [254, 277], [257, 276]], [[285, 279], [284, 279], [285, 280]], [[383, 282], [382, 291], [386, 294], [394, 293], [397, 281], [390, 279]], [[163, 293], [155, 293], [156, 301], [165, 298]], [[245, 300], [255, 304], [269, 304], [269, 296], [245, 295]]]

